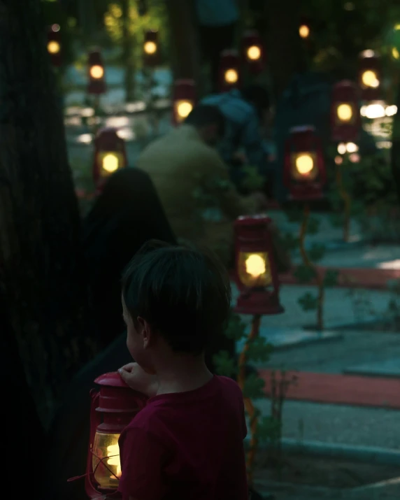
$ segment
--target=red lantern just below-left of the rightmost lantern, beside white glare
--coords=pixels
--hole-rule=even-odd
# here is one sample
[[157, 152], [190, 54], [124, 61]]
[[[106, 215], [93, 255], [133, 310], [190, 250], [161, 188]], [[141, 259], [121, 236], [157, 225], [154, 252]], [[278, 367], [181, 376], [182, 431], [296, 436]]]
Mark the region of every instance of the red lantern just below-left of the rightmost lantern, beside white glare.
[[356, 142], [360, 129], [361, 117], [357, 85], [349, 81], [336, 83], [331, 97], [332, 141]]

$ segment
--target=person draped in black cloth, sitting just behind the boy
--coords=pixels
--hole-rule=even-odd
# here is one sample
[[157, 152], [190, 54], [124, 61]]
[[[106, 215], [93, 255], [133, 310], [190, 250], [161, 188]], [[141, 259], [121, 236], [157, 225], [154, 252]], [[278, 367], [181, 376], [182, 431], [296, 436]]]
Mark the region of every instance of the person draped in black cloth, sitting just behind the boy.
[[83, 221], [83, 248], [99, 341], [105, 347], [124, 331], [120, 277], [143, 243], [176, 243], [152, 181], [140, 169], [114, 173]]

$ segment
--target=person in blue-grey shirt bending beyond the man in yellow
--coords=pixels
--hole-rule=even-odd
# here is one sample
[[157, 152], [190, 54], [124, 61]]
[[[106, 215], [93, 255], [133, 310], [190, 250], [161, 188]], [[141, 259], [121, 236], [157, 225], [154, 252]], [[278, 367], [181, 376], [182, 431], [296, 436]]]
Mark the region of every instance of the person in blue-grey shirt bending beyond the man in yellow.
[[240, 191], [244, 173], [241, 166], [257, 168], [266, 178], [265, 189], [272, 197], [275, 150], [267, 138], [271, 134], [271, 101], [269, 92], [261, 85], [250, 85], [243, 90], [213, 94], [201, 101], [216, 106], [224, 115], [226, 132], [220, 144], [220, 154], [230, 166], [231, 179]]

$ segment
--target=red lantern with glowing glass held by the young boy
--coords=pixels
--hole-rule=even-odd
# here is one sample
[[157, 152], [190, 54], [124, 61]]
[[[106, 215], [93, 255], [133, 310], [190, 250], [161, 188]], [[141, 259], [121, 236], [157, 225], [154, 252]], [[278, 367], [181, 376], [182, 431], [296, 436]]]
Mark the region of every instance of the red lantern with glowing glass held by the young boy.
[[87, 496], [92, 499], [117, 490], [121, 476], [118, 438], [147, 400], [143, 394], [131, 390], [117, 372], [105, 373], [94, 382], [100, 385], [100, 390], [90, 392], [90, 443], [85, 479]]

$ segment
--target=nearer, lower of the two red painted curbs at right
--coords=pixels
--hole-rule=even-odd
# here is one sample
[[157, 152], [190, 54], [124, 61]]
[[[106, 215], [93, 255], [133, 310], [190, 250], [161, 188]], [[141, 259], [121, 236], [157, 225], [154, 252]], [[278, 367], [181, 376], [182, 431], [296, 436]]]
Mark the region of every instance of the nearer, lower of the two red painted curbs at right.
[[[259, 370], [265, 381], [266, 397], [271, 394], [271, 370]], [[315, 403], [372, 406], [400, 410], [400, 379], [342, 375], [340, 373], [310, 373], [290, 371], [290, 380], [297, 376], [297, 383], [290, 385], [287, 399]], [[280, 371], [277, 371], [280, 380]]]

